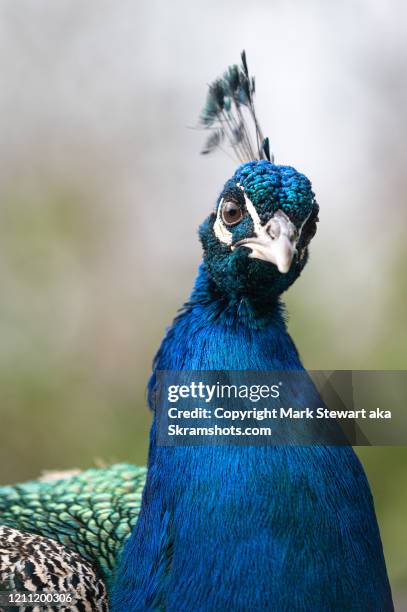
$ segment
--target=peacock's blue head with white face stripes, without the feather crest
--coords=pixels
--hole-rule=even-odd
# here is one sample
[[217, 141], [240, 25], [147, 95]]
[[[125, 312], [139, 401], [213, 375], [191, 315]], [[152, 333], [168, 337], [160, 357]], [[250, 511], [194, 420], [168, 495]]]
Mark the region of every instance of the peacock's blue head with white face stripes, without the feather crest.
[[318, 204], [306, 176], [268, 160], [241, 165], [200, 227], [208, 272], [234, 296], [278, 296], [300, 275]]

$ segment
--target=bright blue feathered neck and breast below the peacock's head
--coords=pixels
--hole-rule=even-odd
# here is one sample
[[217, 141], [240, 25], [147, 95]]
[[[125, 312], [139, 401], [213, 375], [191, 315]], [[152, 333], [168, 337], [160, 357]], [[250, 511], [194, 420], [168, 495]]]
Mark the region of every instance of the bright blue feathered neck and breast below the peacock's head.
[[[276, 299], [225, 301], [201, 267], [156, 370], [301, 369]], [[154, 372], [150, 390], [154, 386]], [[114, 611], [390, 611], [380, 535], [348, 447], [156, 447]]]

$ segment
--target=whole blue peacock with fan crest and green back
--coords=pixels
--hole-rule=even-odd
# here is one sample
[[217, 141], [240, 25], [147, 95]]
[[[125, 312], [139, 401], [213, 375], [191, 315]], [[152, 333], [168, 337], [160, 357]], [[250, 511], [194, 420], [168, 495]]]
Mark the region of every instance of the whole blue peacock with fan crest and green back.
[[228, 148], [239, 166], [199, 228], [192, 293], [153, 362], [147, 469], [0, 488], [0, 590], [71, 589], [69, 610], [393, 610], [351, 446], [157, 444], [161, 371], [304, 371], [281, 295], [307, 263], [319, 206], [304, 174], [275, 163], [254, 95], [243, 52], [200, 116], [202, 152]]

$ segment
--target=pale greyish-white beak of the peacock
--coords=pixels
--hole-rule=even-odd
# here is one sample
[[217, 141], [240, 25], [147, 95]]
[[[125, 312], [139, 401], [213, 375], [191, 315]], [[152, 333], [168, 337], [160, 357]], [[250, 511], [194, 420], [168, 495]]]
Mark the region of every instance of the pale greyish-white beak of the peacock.
[[297, 240], [295, 225], [282, 210], [278, 210], [265, 225], [256, 228], [255, 236], [239, 240], [233, 246], [251, 249], [249, 257], [268, 261], [286, 274], [296, 253]]

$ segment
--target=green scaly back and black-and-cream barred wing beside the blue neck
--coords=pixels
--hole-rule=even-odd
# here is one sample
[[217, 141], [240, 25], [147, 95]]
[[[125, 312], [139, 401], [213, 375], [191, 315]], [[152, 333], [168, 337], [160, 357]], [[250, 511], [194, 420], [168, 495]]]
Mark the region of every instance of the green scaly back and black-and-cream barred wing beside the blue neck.
[[69, 610], [108, 610], [146, 473], [117, 464], [1, 487], [0, 591], [74, 592], [83, 607]]

